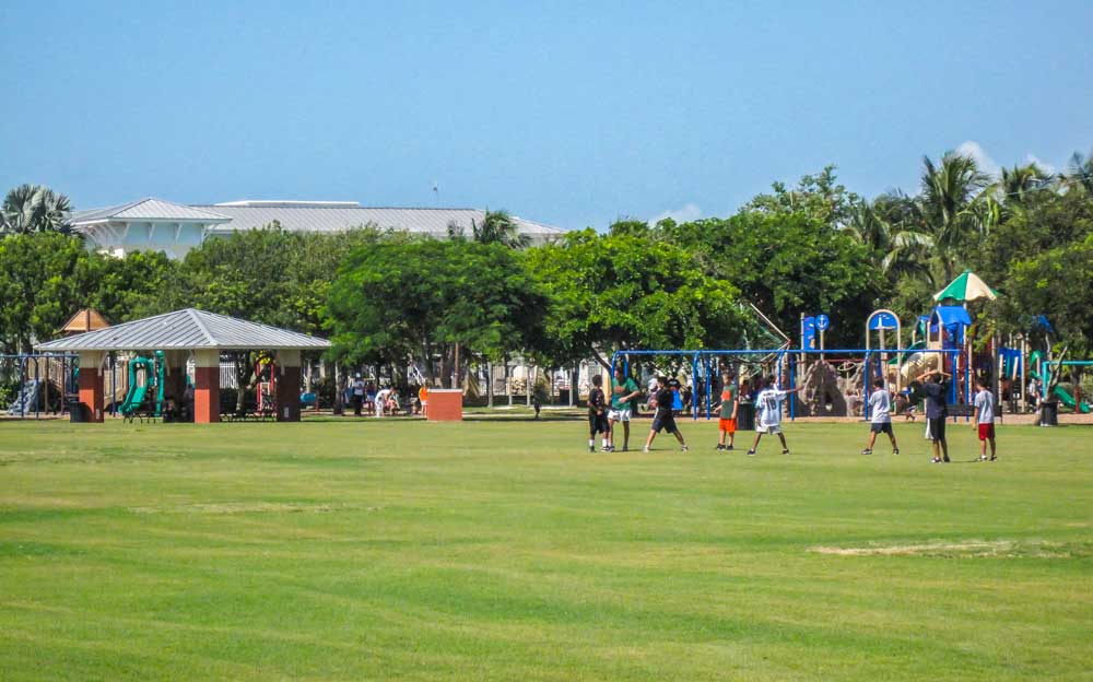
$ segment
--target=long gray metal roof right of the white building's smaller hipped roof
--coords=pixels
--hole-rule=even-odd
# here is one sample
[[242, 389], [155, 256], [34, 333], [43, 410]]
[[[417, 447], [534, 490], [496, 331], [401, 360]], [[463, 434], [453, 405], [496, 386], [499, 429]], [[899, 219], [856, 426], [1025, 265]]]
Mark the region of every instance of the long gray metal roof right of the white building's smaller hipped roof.
[[[227, 233], [233, 230], [257, 230], [273, 221], [290, 232], [343, 232], [353, 227], [373, 225], [413, 233], [447, 236], [448, 224], [456, 224], [471, 231], [471, 221], [479, 224], [485, 211], [479, 209], [428, 209], [428, 208], [366, 208], [338, 205], [198, 205], [196, 208], [222, 213], [232, 222], [215, 225], [212, 233]], [[520, 233], [532, 238], [545, 239], [565, 234], [560, 227], [551, 227], [534, 221], [513, 216]]]

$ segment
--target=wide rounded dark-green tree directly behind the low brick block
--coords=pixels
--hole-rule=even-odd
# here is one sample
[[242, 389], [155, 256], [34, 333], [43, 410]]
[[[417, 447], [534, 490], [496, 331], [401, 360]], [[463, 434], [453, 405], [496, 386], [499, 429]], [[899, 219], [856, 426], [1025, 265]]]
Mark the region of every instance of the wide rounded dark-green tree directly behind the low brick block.
[[[350, 363], [450, 366], [455, 344], [493, 360], [539, 348], [546, 297], [498, 243], [388, 239], [354, 249], [330, 287], [333, 353]], [[442, 373], [447, 385], [448, 374]]]

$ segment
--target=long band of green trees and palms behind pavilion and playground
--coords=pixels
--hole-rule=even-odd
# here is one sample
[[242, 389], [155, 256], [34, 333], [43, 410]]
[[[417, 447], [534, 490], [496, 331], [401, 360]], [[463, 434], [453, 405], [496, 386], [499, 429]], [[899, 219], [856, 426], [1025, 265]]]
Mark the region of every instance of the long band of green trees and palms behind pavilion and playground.
[[[967, 156], [925, 158], [917, 195], [863, 199], [833, 167], [775, 184], [728, 217], [621, 220], [532, 247], [502, 211], [446, 240], [362, 227], [273, 224], [208, 239], [180, 260], [84, 248], [63, 195], [11, 190], [0, 224], [0, 346], [26, 352], [77, 309], [111, 322], [193, 306], [331, 338], [331, 358], [398, 364], [524, 355], [571, 366], [625, 348], [768, 345], [764, 311], [795, 338], [826, 313], [828, 344], [858, 345], [866, 316], [910, 324], [963, 269], [1000, 292], [989, 331], [1046, 315], [1072, 353], [1093, 352], [1093, 160], [989, 177]], [[432, 363], [427, 371], [432, 372]]]

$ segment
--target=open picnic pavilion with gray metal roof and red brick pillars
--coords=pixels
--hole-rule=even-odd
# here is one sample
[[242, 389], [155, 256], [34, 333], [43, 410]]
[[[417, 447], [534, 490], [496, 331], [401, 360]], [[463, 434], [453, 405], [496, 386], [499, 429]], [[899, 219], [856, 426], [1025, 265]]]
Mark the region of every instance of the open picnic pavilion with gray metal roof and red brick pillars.
[[[80, 402], [90, 420], [103, 421], [103, 367], [111, 351], [163, 351], [165, 384], [174, 395], [186, 387], [186, 364], [195, 362], [193, 421], [220, 421], [222, 351], [272, 351], [278, 367], [277, 419], [299, 421], [299, 353], [324, 351], [330, 342], [287, 329], [184, 308], [105, 329], [38, 343], [39, 351], [80, 355]], [[171, 390], [173, 389], [173, 390]]]

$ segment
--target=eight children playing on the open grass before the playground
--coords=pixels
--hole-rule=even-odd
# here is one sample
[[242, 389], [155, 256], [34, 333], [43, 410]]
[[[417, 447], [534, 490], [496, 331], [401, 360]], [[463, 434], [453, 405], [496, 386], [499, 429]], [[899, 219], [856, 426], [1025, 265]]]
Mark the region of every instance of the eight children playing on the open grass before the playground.
[[[951, 461], [949, 458], [949, 443], [945, 439], [945, 424], [949, 419], [948, 410], [948, 384], [945, 379], [950, 375], [943, 372], [931, 371], [918, 377], [922, 383], [922, 392], [926, 397], [926, 437], [932, 443], [935, 463]], [[755, 456], [760, 442], [764, 435], [777, 435], [781, 443], [781, 454], [789, 455], [789, 444], [786, 442], [786, 434], [781, 431], [783, 403], [799, 390], [799, 388], [779, 389], [777, 379], [774, 376], [760, 377], [753, 386], [751, 379], [742, 379], [737, 387], [734, 377], [726, 372], [721, 375], [721, 395], [719, 420], [718, 420], [718, 442], [716, 449], [734, 449], [737, 433], [737, 418], [740, 409], [740, 397], [751, 396], [757, 388], [755, 396], [755, 438], [749, 456]], [[998, 459], [995, 446], [995, 414], [997, 412], [994, 393], [988, 389], [986, 379], [976, 381], [976, 395], [974, 400], [973, 426], [979, 436], [979, 460], [988, 461], [987, 448], [989, 445], [989, 461]], [[665, 376], [656, 378], [656, 386], [650, 390], [649, 405], [656, 412], [653, 416], [653, 424], [645, 440], [644, 451], [648, 452], [653, 448], [653, 442], [657, 435], [667, 431], [675, 437], [682, 451], [687, 451], [686, 439], [683, 437], [679, 425], [675, 423], [675, 412], [680, 404], [680, 383], [677, 379], [669, 379]], [[610, 387], [610, 395], [603, 390], [603, 379], [597, 375], [592, 377], [592, 389], [588, 396], [588, 451], [596, 451], [596, 437], [602, 438], [602, 451], [611, 452], [615, 450], [614, 434], [615, 425], [623, 425], [623, 447], [626, 451], [630, 448], [630, 423], [637, 413], [637, 405], [642, 398], [642, 389], [633, 378], [628, 377], [623, 367], [615, 368], [614, 381]], [[869, 393], [869, 444], [861, 451], [862, 455], [872, 455], [873, 445], [877, 443], [879, 434], [885, 434], [892, 444], [892, 454], [900, 454], [900, 446], [896, 443], [895, 432], [892, 430], [892, 393], [885, 387], [883, 379], [873, 381], [872, 391]], [[726, 443], [727, 440], [727, 443]]]

